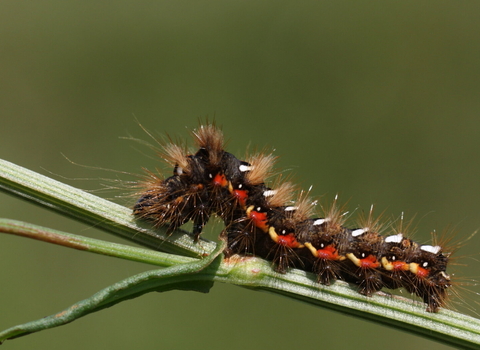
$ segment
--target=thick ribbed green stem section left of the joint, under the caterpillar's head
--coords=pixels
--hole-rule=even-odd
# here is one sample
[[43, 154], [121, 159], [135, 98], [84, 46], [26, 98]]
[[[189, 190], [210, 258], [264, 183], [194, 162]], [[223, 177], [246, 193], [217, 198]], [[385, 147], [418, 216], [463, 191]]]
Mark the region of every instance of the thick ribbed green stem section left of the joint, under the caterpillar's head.
[[215, 247], [206, 240], [195, 244], [181, 230], [171, 234], [162, 228], [152, 230], [135, 221], [128, 208], [2, 159], [0, 190], [152, 249], [198, 257]]

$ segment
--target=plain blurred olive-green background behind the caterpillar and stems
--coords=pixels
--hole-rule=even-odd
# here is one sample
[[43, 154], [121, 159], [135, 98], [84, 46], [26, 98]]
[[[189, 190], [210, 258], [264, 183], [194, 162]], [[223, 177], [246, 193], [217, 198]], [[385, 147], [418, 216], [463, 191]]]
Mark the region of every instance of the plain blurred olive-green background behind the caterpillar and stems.
[[[94, 190], [100, 178], [131, 177], [71, 164], [62, 153], [139, 173], [161, 165], [148, 149], [119, 138], [148, 139], [135, 118], [151, 131], [188, 138], [198, 118], [215, 116], [231, 152], [275, 149], [278, 167], [291, 169], [304, 188], [314, 184], [315, 196], [329, 201], [339, 193], [351, 210], [375, 203], [387, 219], [416, 215], [420, 241], [449, 225], [466, 237], [480, 227], [479, 10], [477, 1], [4, 1], [0, 157]], [[121, 241], [9, 195], [0, 199], [1, 216]], [[458, 254], [470, 256], [458, 267], [464, 279], [480, 275], [479, 244], [477, 235]], [[149, 268], [6, 235], [0, 251], [2, 329]], [[461, 304], [478, 311], [479, 298], [463, 296]], [[5, 344], [385, 345], [434, 344], [228, 285], [206, 295], [149, 294]]]

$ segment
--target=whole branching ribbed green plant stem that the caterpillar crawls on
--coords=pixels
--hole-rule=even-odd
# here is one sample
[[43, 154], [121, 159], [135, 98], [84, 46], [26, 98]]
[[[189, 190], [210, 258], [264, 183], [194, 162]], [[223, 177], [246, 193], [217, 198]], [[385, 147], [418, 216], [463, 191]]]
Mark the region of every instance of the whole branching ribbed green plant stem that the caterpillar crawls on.
[[[0, 187], [7, 192], [53, 208], [64, 215], [95, 223], [97, 227], [101, 227], [108, 232], [126, 237], [131, 235], [130, 239], [135, 236], [136, 238], [133, 240], [137, 242], [139, 241], [137, 238], [142, 236], [143, 238], [140, 241], [148, 247], [158, 248], [160, 245], [162, 249], [167, 248], [165, 250], [168, 251], [181, 252], [188, 256], [198, 256], [212, 251], [210, 248], [214, 246], [213, 243], [207, 242], [202, 242], [201, 245], [195, 244], [188, 235], [184, 234], [179, 236], [181, 243], [177, 242], [177, 239], [175, 243], [171, 243], [165, 235], [139, 227], [132, 220], [130, 210], [127, 208], [4, 161], [0, 161]], [[95, 222], [95, 220], [99, 220], [99, 222]], [[172, 288], [205, 290], [205, 286], [209, 286], [212, 281], [231, 283], [286, 295], [312, 305], [369, 319], [383, 325], [390, 325], [396, 329], [406, 330], [456, 347], [480, 349], [480, 320], [478, 319], [443, 309], [436, 314], [427, 313], [423, 303], [396, 296], [385, 296], [378, 293], [373, 297], [365, 297], [342, 281], [337, 281], [333, 286], [318, 285], [312, 274], [300, 270], [291, 270], [283, 275], [278, 274], [271, 269], [269, 262], [258, 258], [231, 258], [219, 263], [218, 266], [207, 266], [206, 262], [209, 262], [208, 260], [191, 260], [191, 258], [178, 255], [151, 252], [121, 244], [115, 245], [10, 220], [2, 220], [0, 225], [2, 226], [0, 231], [6, 233], [28, 236], [99, 254], [143, 261], [149, 264], [171, 266], [171, 270], [168, 270], [169, 267], [165, 269], [167, 272], [162, 272], [164, 275], [158, 274], [158, 271], [147, 272], [144, 275], [150, 276], [149, 273], [153, 275], [157, 273], [156, 276], [159, 280], [166, 281], [165, 283], [162, 282], [164, 284], [159, 287], [160, 290], [170, 290]], [[198, 265], [195, 265], [196, 263]], [[182, 270], [183, 267], [178, 270], [174, 269], [175, 266], [184, 265], [190, 266], [186, 268], [190, 271], [187, 274], [185, 274], [187, 270]], [[199, 273], [193, 273], [192, 266], [201, 266], [204, 269]], [[132, 283], [127, 286], [127, 291], [130, 288], [132, 291], [128, 291], [124, 299], [155, 289], [150, 288], [149, 284], [144, 284], [141, 278], [135, 280], [138, 276], [134, 276], [133, 280], [129, 279]], [[119, 301], [115, 300], [115, 303]], [[97, 305], [96, 309], [89, 310], [87, 308], [81, 316], [98, 311], [102, 308], [99, 305], [107, 307], [113, 304], [94, 305]], [[76, 318], [76, 316], [72, 316], [68, 322]], [[13, 332], [13, 329], [18, 330], [17, 327], [13, 327], [9, 332]], [[9, 337], [5, 334], [3, 332], [4, 338], [0, 339], [9, 338], [13, 333], [9, 333]], [[19, 334], [15, 333], [15, 336], [19, 336]]]

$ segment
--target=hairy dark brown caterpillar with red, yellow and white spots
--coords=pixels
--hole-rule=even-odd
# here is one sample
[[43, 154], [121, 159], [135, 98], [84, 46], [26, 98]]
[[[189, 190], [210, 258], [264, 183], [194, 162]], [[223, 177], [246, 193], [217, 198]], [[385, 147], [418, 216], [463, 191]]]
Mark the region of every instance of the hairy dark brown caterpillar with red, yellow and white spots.
[[373, 207], [356, 227], [348, 228], [336, 197], [315, 217], [316, 202], [308, 191], [286, 181], [266, 184], [276, 161], [272, 154], [238, 159], [224, 150], [223, 133], [214, 122], [200, 125], [192, 136], [196, 152], [175, 143], [164, 145], [162, 157], [173, 175], [148, 173], [133, 207], [136, 218], [167, 225], [170, 231], [191, 221], [198, 240], [216, 215], [225, 224], [226, 258], [261, 257], [280, 273], [304, 269], [314, 273], [318, 283], [344, 280], [366, 296], [383, 288], [405, 288], [423, 300], [428, 312], [446, 306], [451, 252], [406, 237], [403, 215], [389, 234], [381, 234], [381, 216], [375, 217]]

